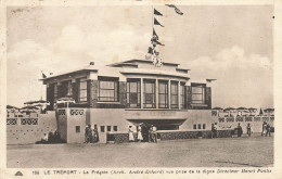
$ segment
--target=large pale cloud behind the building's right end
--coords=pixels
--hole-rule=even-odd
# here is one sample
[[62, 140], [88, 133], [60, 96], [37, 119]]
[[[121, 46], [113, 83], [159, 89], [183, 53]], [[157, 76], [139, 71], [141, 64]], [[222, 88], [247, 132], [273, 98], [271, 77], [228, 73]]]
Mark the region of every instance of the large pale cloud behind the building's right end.
[[192, 79], [216, 78], [213, 104], [227, 106], [273, 106], [273, 67], [267, 56], [246, 54], [233, 46], [215, 56], [201, 56], [185, 64]]

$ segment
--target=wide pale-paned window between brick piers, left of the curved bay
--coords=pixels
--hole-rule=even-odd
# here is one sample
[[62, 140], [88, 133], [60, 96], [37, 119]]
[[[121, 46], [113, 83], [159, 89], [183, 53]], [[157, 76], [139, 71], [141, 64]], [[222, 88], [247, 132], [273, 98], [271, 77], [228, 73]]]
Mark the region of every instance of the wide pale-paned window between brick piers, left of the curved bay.
[[118, 102], [118, 78], [99, 77], [99, 101]]

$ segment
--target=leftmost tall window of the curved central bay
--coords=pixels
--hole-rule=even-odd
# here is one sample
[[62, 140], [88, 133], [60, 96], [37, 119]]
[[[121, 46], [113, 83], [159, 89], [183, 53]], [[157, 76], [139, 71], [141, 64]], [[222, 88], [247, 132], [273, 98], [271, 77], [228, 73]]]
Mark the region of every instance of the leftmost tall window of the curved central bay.
[[127, 79], [127, 106], [141, 107], [140, 79]]

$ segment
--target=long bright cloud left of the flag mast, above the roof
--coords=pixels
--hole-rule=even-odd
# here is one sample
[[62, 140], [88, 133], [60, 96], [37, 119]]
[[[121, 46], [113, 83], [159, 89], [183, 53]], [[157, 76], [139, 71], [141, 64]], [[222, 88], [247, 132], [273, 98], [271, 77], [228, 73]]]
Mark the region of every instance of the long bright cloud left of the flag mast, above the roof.
[[42, 84], [38, 81], [41, 71], [47, 75], [51, 72], [56, 74], [85, 66], [91, 61], [110, 64], [144, 57], [150, 34], [137, 35], [133, 31], [129, 25], [108, 33], [86, 33], [75, 25], [67, 25], [50, 44], [31, 39], [15, 43], [8, 51], [8, 92], [11, 94], [8, 102], [21, 106], [25, 101], [38, 100], [41, 94], [44, 97]]

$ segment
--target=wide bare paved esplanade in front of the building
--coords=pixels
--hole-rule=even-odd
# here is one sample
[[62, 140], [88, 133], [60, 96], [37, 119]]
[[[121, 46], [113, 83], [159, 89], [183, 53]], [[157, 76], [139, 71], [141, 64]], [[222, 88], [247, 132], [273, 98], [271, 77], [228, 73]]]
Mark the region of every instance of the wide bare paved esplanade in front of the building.
[[8, 167], [260, 167], [273, 165], [273, 137], [158, 143], [8, 145]]

